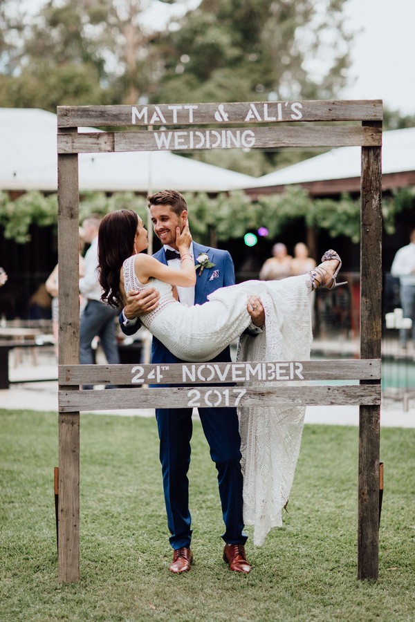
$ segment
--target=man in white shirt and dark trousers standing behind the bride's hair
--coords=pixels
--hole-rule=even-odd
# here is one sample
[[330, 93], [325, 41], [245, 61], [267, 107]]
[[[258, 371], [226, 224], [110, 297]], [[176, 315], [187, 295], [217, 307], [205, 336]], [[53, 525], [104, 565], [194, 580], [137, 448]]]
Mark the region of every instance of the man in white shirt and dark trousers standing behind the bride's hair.
[[[118, 364], [118, 346], [114, 318], [118, 310], [101, 301], [101, 286], [98, 283], [98, 229], [100, 216], [91, 214], [82, 223], [86, 243], [91, 244], [85, 255], [85, 274], [80, 279], [80, 293], [86, 299], [86, 306], [80, 320], [80, 364], [93, 364], [91, 343], [98, 336], [109, 364]], [[93, 388], [84, 385], [85, 388]], [[107, 388], [110, 388], [108, 385]]]

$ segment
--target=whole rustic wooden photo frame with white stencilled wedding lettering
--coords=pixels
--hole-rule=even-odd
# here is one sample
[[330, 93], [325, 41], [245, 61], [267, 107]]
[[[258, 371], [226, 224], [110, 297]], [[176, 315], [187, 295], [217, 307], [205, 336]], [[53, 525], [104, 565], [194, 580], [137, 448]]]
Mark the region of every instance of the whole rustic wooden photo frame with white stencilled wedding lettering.
[[[308, 122], [322, 124], [311, 126]], [[116, 131], [78, 132], [91, 126]], [[80, 411], [137, 408], [138, 404], [141, 408], [181, 408], [287, 401], [359, 404], [358, 578], [378, 577], [381, 145], [381, 100], [58, 107], [59, 581], [70, 583], [80, 578]], [[214, 367], [79, 365], [79, 153], [344, 146], [361, 147], [360, 359]], [[243, 387], [245, 379], [258, 375], [261, 380], [272, 380], [274, 386], [267, 390]], [[275, 386], [278, 379], [358, 380], [360, 384], [293, 387], [284, 382], [279, 387]], [[223, 385], [230, 380], [237, 384]], [[147, 381], [181, 386], [140, 387]], [[140, 394], [131, 388], [80, 390], [85, 383], [136, 384]], [[197, 388], [192, 384], [198, 384]]]

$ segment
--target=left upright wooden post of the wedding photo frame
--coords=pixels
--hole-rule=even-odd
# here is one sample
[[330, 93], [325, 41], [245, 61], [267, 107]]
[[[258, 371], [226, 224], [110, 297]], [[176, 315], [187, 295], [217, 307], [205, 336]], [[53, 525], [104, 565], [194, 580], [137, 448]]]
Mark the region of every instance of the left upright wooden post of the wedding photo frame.
[[[76, 129], [66, 130], [68, 133]], [[79, 363], [77, 154], [58, 156], [59, 364]], [[58, 580], [80, 578], [80, 413], [59, 412]]]

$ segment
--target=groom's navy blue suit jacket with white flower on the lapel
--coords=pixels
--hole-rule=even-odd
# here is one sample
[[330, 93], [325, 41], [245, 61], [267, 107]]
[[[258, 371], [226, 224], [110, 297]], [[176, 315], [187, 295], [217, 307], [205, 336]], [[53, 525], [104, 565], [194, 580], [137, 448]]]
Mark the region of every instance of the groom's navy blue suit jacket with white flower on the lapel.
[[[211, 294], [219, 288], [227, 287], [228, 285], [234, 285], [235, 273], [232, 257], [228, 251], [220, 250], [217, 248], [211, 248], [203, 246], [201, 244], [193, 243], [194, 263], [197, 264], [197, 257], [200, 253], [205, 253], [209, 257], [209, 261], [214, 263], [214, 267], [204, 268], [202, 274], [200, 270], [196, 273], [196, 285], [194, 288], [194, 304], [203, 305], [208, 300], [208, 294]], [[161, 248], [154, 255], [158, 261], [165, 263], [165, 250]], [[128, 292], [127, 292], [128, 293]], [[120, 314], [120, 326], [124, 334], [134, 334], [140, 328], [140, 323], [135, 326], [124, 326], [122, 323], [122, 314]], [[223, 350], [215, 359], [215, 361], [230, 361], [230, 348], [229, 346]], [[172, 352], [167, 350], [161, 341], [153, 337], [151, 343], [151, 362], [152, 363], [177, 363], [181, 362], [177, 359]]]

